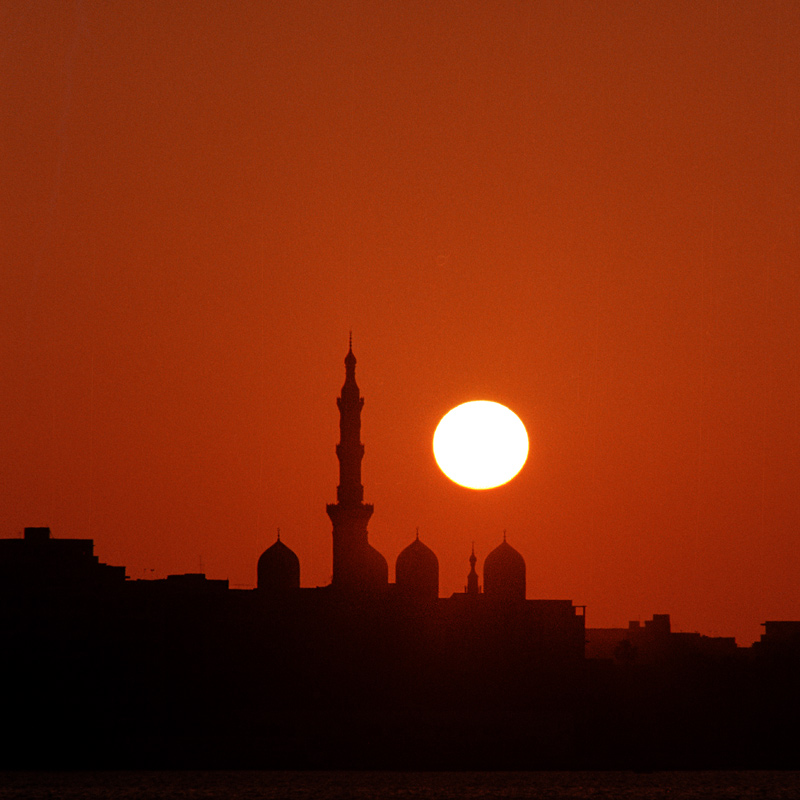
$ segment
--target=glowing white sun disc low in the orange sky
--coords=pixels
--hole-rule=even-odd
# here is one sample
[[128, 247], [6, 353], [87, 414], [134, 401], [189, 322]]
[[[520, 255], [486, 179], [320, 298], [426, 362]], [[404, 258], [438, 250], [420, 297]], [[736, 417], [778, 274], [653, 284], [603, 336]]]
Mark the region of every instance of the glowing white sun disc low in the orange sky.
[[442, 417], [433, 434], [433, 455], [454, 483], [493, 489], [522, 469], [528, 458], [528, 433], [510, 408], [473, 400]]

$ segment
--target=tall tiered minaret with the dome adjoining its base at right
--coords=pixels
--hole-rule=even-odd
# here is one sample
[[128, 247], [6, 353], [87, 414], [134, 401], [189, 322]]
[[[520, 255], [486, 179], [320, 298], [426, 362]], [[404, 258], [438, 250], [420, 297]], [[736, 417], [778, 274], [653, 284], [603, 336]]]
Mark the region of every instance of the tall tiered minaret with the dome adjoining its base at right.
[[375, 591], [389, 582], [386, 559], [367, 540], [367, 523], [372, 516], [372, 505], [364, 502], [361, 485], [361, 409], [364, 398], [356, 384], [356, 357], [353, 355], [353, 338], [344, 359], [345, 379], [339, 407], [339, 486], [336, 503], [328, 505], [328, 516], [333, 523], [333, 583], [337, 589], [349, 592]]

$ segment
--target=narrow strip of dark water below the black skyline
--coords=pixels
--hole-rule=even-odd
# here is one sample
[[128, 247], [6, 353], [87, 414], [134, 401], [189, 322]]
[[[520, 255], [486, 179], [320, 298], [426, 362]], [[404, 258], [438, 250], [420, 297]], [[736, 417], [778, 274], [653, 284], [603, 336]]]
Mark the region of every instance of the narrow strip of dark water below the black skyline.
[[5, 772], [0, 800], [800, 798], [800, 772]]

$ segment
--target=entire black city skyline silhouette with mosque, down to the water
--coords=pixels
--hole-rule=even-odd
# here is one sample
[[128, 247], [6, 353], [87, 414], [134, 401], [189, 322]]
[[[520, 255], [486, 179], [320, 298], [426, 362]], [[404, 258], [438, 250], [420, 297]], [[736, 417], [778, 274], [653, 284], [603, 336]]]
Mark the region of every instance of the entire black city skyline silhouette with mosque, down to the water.
[[129, 580], [48, 528], [0, 540], [0, 768], [800, 766], [800, 623], [749, 651], [666, 614], [587, 631], [572, 601], [527, 598], [505, 533], [483, 586], [473, 544], [464, 591], [440, 597], [419, 532], [390, 583], [355, 369], [351, 341], [328, 586], [301, 586], [280, 532], [252, 590]]

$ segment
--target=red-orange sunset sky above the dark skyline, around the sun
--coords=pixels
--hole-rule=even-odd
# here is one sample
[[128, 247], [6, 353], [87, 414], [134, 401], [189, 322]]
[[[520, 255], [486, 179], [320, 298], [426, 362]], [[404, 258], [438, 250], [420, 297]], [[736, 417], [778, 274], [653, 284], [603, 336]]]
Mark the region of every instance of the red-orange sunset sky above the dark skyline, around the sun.
[[[508, 530], [587, 624], [800, 618], [800, 4], [0, 9], [0, 536], [331, 571], [352, 328], [373, 544]], [[491, 399], [510, 484], [433, 460]], [[151, 571], [152, 570], [152, 571]]]

